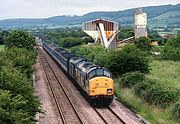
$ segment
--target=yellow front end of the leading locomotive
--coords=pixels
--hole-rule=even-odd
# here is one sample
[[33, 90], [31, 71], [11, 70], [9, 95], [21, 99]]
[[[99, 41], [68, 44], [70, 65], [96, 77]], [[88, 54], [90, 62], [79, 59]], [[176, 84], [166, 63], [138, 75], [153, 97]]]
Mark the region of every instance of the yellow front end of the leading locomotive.
[[114, 95], [114, 81], [109, 77], [95, 77], [89, 80], [90, 97], [107, 97]]

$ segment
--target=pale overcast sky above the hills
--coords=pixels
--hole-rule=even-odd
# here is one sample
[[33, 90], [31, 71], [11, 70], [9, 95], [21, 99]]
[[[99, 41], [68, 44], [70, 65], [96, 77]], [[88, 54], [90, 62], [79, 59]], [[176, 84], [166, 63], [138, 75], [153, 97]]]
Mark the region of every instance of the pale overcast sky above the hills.
[[0, 20], [83, 15], [134, 7], [178, 4], [179, 0], [0, 0]]

